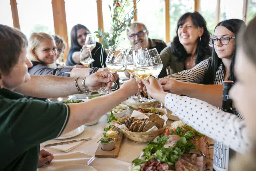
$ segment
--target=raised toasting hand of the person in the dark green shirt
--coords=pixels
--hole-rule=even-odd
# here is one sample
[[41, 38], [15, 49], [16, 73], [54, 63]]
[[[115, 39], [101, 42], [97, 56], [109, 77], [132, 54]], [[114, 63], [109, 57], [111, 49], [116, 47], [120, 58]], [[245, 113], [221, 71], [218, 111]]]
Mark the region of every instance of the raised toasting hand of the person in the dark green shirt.
[[126, 81], [123, 85], [121, 85], [120, 90], [126, 93], [127, 96], [133, 96], [138, 92], [139, 86], [134, 78]]

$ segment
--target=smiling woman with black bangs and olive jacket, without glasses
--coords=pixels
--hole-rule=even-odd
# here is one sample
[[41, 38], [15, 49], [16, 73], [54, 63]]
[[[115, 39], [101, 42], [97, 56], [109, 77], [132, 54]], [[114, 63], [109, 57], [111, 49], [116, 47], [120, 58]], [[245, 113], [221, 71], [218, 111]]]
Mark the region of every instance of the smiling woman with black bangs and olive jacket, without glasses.
[[169, 74], [191, 69], [211, 56], [210, 33], [198, 12], [183, 14], [178, 20], [176, 34], [171, 46], [160, 53], [163, 68], [170, 66]]

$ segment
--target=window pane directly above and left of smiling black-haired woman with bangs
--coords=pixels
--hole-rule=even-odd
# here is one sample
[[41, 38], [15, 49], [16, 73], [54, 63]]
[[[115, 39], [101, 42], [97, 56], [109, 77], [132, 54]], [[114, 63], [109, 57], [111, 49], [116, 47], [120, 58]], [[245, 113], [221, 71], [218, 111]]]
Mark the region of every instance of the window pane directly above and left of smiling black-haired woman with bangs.
[[186, 12], [194, 12], [194, 0], [170, 0], [170, 40], [176, 36], [179, 18]]

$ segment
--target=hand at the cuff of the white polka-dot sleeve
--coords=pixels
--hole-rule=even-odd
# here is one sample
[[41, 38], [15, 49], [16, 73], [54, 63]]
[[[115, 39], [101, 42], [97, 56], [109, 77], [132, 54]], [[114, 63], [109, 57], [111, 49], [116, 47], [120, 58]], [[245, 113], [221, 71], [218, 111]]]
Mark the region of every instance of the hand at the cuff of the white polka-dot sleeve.
[[147, 80], [142, 80], [145, 87], [143, 88], [144, 91], [148, 92], [148, 95], [153, 97], [154, 99], [164, 103], [164, 98], [166, 93], [164, 92], [162, 85], [160, 82], [155, 79], [154, 77], [150, 76]]

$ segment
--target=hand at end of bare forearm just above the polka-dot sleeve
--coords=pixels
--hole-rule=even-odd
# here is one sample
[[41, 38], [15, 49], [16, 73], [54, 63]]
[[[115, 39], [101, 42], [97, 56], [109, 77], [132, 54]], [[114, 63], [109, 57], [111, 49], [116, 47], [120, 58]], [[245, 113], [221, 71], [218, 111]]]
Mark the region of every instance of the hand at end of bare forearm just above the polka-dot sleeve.
[[183, 94], [182, 92], [183, 92], [184, 82], [182, 81], [177, 81], [171, 78], [163, 78], [160, 80], [160, 83], [165, 92], [173, 93], [177, 95]]

